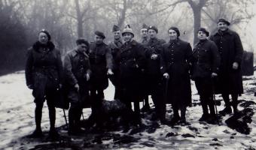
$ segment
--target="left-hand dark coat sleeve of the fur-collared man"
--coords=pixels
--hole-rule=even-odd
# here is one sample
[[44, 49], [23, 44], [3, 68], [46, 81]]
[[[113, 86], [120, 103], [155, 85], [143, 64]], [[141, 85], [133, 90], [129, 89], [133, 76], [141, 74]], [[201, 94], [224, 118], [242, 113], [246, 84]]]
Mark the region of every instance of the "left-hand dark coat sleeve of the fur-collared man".
[[33, 55], [32, 55], [32, 49], [29, 49], [27, 52], [26, 67], [25, 67], [25, 76], [26, 76], [27, 86], [33, 85], [32, 68], [33, 68]]

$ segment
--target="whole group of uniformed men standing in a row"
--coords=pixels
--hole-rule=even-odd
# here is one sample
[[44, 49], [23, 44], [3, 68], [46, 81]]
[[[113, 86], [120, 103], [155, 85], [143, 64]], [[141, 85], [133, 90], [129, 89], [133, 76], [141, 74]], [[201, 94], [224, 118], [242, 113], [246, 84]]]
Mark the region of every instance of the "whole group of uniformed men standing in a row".
[[[77, 46], [64, 59], [50, 42], [50, 34], [42, 30], [38, 41], [29, 49], [26, 63], [26, 82], [35, 97], [36, 130], [32, 136], [41, 136], [41, 110], [45, 99], [49, 108], [50, 135], [56, 136], [55, 89], [66, 86], [71, 104], [69, 133], [79, 132], [79, 121], [84, 107], [99, 105], [108, 79], [113, 83], [114, 99], [132, 110], [133, 124], [141, 124], [139, 103], [149, 110], [148, 95], [154, 102], [152, 120], [162, 124], [186, 122], [186, 109], [191, 104], [190, 79], [196, 83], [203, 115], [199, 121], [215, 124], [217, 115], [213, 94], [221, 94], [225, 102], [221, 115], [237, 113], [237, 98], [242, 94], [242, 43], [239, 35], [230, 30], [230, 23], [220, 19], [218, 31], [209, 37], [206, 28], [199, 28], [199, 42], [192, 50], [190, 43], [179, 38], [177, 27], [168, 29], [169, 41], [157, 38], [156, 26], [141, 29], [142, 40], [133, 39], [133, 29], [112, 29], [114, 40], [104, 43], [105, 34], [95, 31], [95, 41], [79, 38]], [[209, 37], [209, 39], [208, 39]], [[230, 104], [229, 95], [233, 103]], [[166, 121], [166, 104], [172, 104], [173, 117]], [[180, 115], [178, 111], [180, 110]], [[93, 112], [92, 112], [93, 113]]]

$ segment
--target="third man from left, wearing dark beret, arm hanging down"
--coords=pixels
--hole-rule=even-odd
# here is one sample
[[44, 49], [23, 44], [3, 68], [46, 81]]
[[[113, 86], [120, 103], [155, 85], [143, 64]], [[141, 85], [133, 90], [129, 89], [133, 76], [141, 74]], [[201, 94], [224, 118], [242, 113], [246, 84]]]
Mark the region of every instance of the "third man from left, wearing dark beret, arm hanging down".
[[89, 58], [92, 76], [90, 79], [90, 96], [93, 103], [104, 98], [104, 89], [108, 87], [108, 75], [112, 72], [112, 55], [108, 45], [103, 42], [105, 35], [95, 31], [95, 42], [90, 44]]

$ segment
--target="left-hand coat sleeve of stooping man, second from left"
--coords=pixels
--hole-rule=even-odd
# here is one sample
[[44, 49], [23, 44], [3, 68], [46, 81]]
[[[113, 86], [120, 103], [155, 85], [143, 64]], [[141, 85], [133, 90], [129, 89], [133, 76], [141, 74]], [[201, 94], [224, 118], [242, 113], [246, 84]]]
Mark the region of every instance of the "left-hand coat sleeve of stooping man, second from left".
[[70, 85], [75, 86], [75, 84], [78, 83], [78, 80], [75, 78], [75, 75], [72, 72], [72, 60], [70, 57], [71, 55], [68, 53], [64, 59], [65, 77]]

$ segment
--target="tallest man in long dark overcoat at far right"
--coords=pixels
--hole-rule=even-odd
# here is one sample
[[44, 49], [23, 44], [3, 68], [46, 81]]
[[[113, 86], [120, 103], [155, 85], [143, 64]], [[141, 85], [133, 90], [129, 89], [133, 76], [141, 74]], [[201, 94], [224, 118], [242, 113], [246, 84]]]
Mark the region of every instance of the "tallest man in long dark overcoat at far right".
[[218, 46], [221, 55], [220, 72], [218, 76], [218, 93], [222, 95], [225, 102], [222, 115], [232, 113], [230, 98], [233, 101], [233, 112], [237, 113], [237, 98], [243, 93], [242, 87], [242, 42], [239, 34], [230, 30], [230, 23], [225, 19], [218, 20], [218, 31], [210, 37]]

